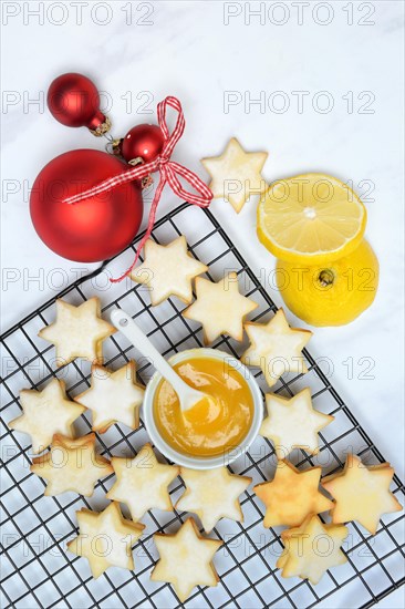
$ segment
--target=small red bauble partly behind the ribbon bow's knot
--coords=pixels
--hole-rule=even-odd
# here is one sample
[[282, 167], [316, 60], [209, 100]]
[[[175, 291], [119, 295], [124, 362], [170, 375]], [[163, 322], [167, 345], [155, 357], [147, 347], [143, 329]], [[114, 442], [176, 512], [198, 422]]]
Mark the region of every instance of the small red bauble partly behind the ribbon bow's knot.
[[121, 141], [121, 154], [127, 163], [142, 158], [150, 163], [160, 154], [164, 137], [157, 125], [136, 125]]

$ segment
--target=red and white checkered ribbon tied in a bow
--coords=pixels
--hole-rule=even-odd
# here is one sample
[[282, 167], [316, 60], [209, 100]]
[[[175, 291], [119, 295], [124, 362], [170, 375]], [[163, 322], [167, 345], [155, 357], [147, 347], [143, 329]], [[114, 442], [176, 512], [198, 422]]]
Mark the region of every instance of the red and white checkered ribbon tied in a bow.
[[[167, 106], [173, 107], [178, 113], [176, 125], [172, 134], [169, 133], [166, 124]], [[204, 184], [204, 182], [194, 172], [190, 172], [189, 169], [187, 169], [187, 167], [179, 165], [175, 161], [170, 161], [172, 153], [177, 142], [181, 137], [186, 125], [181, 104], [177, 100], [177, 97], [168, 96], [163, 100], [163, 102], [159, 102], [159, 104], [157, 105], [157, 118], [159, 127], [164, 135], [164, 146], [160, 155], [155, 158], [155, 161], [137, 165], [133, 169], [127, 169], [117, 176], [110, 177], [108, 179], [101, 182], [97, 186], [94, 186], [93, 188], [89, 188], [87, 190], [84, 190], [79, 195], [66, 197], [64, 199], [64, 202], [69, 204], [79, 203], [80, 200], [83, 200], [85, 198], [94, 197], [102, 193], [112, 190], [116, 186], [125, 184], [126, 182], [132, 182], [133, 179], [142, 179], [153, 172], [160, 173], [159, 183], [156, 187], [155, 196], [149, 210], [146, 233], [141, 239], [141, 242], [136, 249], [133, 264], [121, 277], [118, 277], [118, 279], [111, 279], [111, 281], [114, 283], [117, 281], [122, 281], [127, 275], [129, 275], [129, 272], [136, 265], [137, 259], [139, 258], [141, 251], [145, 242], [150, 237], [150, 233], [155, 224], [156, 209], [166, 183], [170, 186], [175, 195], [177, 195], [181, 199], [187, 200], [188, 203], [191, 203], [193, 205], [198, 205], [198, 207], [208, 207], [212, 199], [212, 193], [210, 192], [208, 186]], [[188, 184], [190, 184], [198, 194], [185, 190], [178, 179], [178, 176], [183, 177]]]

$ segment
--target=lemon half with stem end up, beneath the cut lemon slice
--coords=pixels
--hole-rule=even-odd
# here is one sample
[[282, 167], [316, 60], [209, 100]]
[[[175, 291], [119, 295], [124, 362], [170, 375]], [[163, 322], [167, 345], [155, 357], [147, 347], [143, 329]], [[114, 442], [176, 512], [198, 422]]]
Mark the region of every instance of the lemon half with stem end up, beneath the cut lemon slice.
[[288, 308], [312, 326], [343, 326], [373, 302], [378, 260], [363, 239], [349, 256], [325, 265], [278, 260], [277, 282]]

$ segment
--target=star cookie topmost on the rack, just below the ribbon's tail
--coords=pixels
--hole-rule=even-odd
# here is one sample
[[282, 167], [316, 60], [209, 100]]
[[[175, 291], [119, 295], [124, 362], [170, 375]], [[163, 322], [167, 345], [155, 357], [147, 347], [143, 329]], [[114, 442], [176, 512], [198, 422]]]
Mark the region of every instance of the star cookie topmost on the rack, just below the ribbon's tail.
[[178, 237], [167, 246], [148, 239], [144, 251], [145, 261], [132, 271], [131, 279], [148, 287], [152, 304], [159, 304], [170, 296], [189, 304], [193, 279], [208, 267], [188, 254], [186, 237]]

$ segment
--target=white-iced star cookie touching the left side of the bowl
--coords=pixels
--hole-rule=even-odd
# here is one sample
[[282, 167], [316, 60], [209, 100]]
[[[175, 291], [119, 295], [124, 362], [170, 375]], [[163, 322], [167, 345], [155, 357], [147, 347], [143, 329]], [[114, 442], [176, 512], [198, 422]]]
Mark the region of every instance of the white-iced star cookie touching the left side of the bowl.
[[136, 367], [131, 361], [115, 372], [93, 364], [92, 386], [74, 400], [92, 411], [92, 430], [104, 433], [114, 423], [136, 430], [143, 398], [144, 389], [136, 383]]

